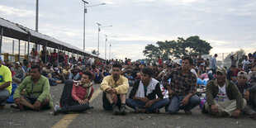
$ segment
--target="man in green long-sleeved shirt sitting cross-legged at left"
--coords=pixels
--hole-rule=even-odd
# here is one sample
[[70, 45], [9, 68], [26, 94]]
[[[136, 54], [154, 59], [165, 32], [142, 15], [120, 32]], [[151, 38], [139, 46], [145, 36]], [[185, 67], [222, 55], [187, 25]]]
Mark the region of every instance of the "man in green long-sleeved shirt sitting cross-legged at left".
[[[21, 92], [26, 89], [24, 94]], [[50, 97], [50, 84], [48, 78], [40, 74], [40, 66], [31, 66], [31, 76], [26, 77], [16, 88], [13, 99], [20, 110], [32, 109], [40, 111], [53, 106]]]

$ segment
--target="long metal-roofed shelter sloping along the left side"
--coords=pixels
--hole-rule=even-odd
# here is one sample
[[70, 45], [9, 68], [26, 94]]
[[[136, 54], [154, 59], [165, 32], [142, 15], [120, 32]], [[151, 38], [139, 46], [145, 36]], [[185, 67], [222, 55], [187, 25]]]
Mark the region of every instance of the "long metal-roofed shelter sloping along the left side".
[[[40, 32], [33, 31], [25, 26], [21, 26], [17, 23], [7, 21], [0, 17], [0, 53], [2, 52], [2, 36], [11, 37], [17, 40], [24, 40], [28, 42], [33, 42], [38, 45], [47, 45], [48, 47], [69, 51], [78, 55], [92, 55], [89, 52], [80, 50], [78, 47], [69, 45], [60, 40], [56, 40], [53, 37], [46, 36]], [[97, 55], [92, 55], [97, 57]], [[102, 59], [102, 58], [99, 58]], [[104, 59], [102, 59], [104, 60]]]

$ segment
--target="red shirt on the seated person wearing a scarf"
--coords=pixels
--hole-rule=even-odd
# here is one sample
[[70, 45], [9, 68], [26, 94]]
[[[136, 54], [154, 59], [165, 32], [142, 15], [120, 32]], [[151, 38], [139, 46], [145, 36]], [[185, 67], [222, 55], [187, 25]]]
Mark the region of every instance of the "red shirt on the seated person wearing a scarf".
[[[73, 83], [73, 88], [72, 88], [72, 97], [73, 97], [73, 99], [75, 101], [83, 100], [84, 97], [87, 94], [87, 89], [88, 88], [83, 88], [81, 86], [75, 86], [75, 84]], [[91, 91], [91, 93], [88, 97], [88, 100], [91, 99], [93, 91], [94, 91], [94, 88], [92, 87], [92, 91]]]

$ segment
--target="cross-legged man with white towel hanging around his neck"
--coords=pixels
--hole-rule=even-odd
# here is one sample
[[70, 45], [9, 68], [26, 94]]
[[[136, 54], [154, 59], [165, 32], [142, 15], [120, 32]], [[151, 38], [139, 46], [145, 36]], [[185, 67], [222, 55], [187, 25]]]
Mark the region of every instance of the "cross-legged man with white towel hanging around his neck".
[[168, 106], [170, 102], [168, 98], [163, 99], [159, 81], [152, 78], [152, 75], [152, 69], [142, 69], [141, 80], [135, 82], [129, 98], [126, 99], [127, 106], [135, 109], [136, 113], [159, 113], [159, 109]]

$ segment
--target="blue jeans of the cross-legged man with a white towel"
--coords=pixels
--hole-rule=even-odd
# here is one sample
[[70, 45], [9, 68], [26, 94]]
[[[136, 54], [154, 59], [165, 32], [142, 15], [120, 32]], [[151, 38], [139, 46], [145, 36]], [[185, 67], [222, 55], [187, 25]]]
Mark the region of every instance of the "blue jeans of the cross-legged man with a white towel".
[[135, 101], [134, 99], [127, 98], [126, 105], [133, 109], [137, 108], [145, 108], [148, 113], [155, 112], [157, 108], [162, 108], [168, 106], [170, 100], [168, 98], [161, 99], [159, 102], [154, 102], [151, 107], [145, 108], [145, 102]]

